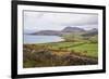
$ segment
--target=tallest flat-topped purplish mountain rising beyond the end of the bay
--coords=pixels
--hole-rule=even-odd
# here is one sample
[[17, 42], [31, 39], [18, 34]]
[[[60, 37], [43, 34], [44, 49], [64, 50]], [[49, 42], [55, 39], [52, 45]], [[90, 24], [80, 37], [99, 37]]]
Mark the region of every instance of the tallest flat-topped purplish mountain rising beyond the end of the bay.
[[78, 28], [78, 27], [65, 27], [63, 30], [63, 32], [81, 32], [81, 31], [85, 31], [83, 28]]

